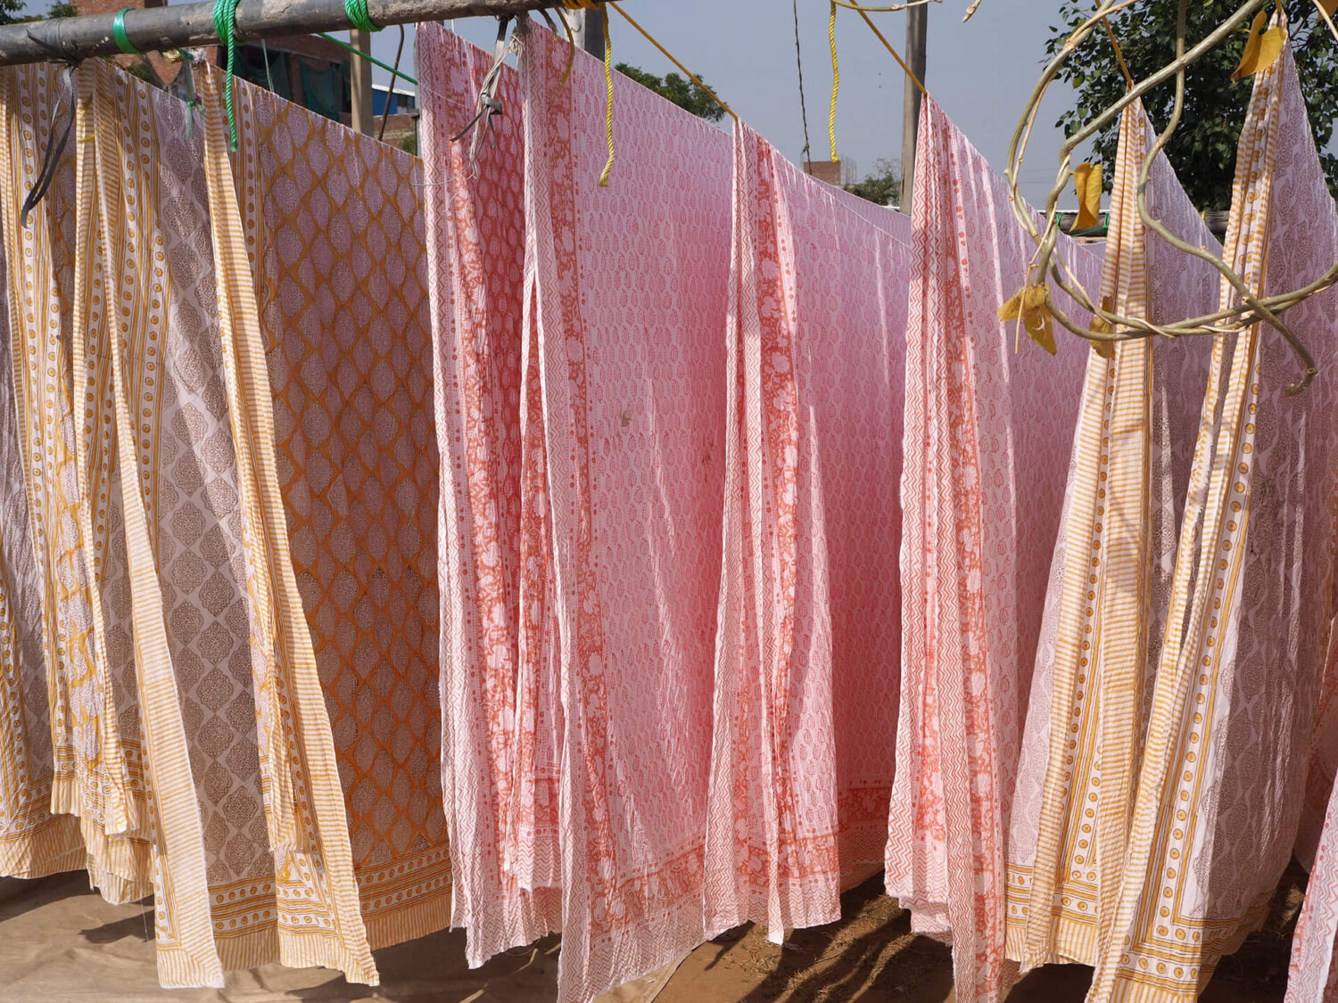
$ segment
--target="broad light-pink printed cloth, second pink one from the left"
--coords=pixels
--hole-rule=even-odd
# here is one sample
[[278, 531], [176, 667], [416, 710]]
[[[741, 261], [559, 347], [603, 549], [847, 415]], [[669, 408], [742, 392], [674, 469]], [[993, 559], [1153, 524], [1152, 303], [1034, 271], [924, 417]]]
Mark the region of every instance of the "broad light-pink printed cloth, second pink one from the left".
[[[702, 940], [724, 499], [731, 139], [542, 28], [523, 36], [561, 647], [559, 1000]], [[529, 328], [527, 328], [529, 329]]]

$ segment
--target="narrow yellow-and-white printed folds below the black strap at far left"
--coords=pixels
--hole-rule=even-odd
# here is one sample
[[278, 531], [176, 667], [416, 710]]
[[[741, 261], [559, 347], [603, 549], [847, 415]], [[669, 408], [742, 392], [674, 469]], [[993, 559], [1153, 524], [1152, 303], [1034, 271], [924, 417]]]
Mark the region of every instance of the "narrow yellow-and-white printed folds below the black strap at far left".
[[[33, 556], [41, 582], [43, 653], [52, 728], [51, 810], [79, 817], [91, 883], [114, 904], [153, 892], [146, 778], [135, 667], [128, 637], [108, 650], [104, 621], [124, 622], [120, 555], [98, 555], [87, 524], [86, 453], [75, 424], [70, 356], [76, 230], [74, 158], [56, 163], [50, 189], [28, 217], [19, 206], [32, 190], [52, 124], [74, 114], [75, 84], [56, 67], [0, 74], [5, 142], [0, 201], [5, 257], [24, 281], [8, 284], [19, 448], [24, 456]], [[54, 151], [52, 151], [54, 154]], [[24, 262], [20, 265], [19, 262]], [[28, 263], [31, 262], [31, 265]], [[31, 277], [27, 274], [31, 267]]]

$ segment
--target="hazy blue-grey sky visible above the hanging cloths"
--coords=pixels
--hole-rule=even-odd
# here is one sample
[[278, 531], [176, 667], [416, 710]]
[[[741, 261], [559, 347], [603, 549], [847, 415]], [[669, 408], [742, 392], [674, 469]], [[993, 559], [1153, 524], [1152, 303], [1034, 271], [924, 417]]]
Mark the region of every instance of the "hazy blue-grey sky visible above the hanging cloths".
[[[870, 0], [876, 3], [876, 0]], [[792, 160], [804, 146], [795, 72], [795, 21], [789, 0], [625, 0], [624, 7], [665, 48], [716, 92], [756, 131]], [[929, 7], [929, 70], [925, 84], [977, 147], [1002, 170], [1022, 104], [1040, 78], [1049, 25], [1058, 20], [1057, 0], [982, 0], [975, 16], [961, 23], [966, 0]], [[827, 44], [828, 4], [799, 0], [804, 96], [814, 159], [826, 159], [827, 108], [831, 99], [831, 55]], [[906, 15], [871, 15], [888, 40], [903, 48]], [[673, 71], [645, 39], [617, 15], [611, 17], [613, 52], [649, 72]], [[455, 28], [476, 44], [491, 47], [496, 23], [459, 19]], [[373, 43], [377, 58], [395, 58], [399, 32], [381, 31]], [[412, 28], [405, 60], [412, 59]], [[879, 158], [899, 159], [902, 86], [904, 74], [854, 11], [838, 11], [836, 43], [840, 94], [836, 144], [854, 159], [860, 175]], [[375, 71], [377, 82], [389, 74]], [[1064, 86], [1052, 87], [1040, 128], [1024, 167], [1024, 194], [1041, 201], [1053, 183], [1056, 151], [1062, 136], [1053, 128], [1072, 103]], [[622, 128], [634, 128], [624, 123]], [[1066, 197], [1062, 205], [1073, 202]]]

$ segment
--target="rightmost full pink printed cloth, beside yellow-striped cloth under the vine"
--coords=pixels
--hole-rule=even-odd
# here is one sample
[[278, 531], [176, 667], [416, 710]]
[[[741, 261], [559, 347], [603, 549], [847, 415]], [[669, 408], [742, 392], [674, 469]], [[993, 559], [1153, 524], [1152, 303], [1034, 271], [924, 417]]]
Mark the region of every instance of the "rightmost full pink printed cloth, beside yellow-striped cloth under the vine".
[[[1013, 975], [1010, 801], [1088, 350], [1062, 332], [1058, 357], [1025, 333], [1017, 346], [997, 320], [1034, 246], [933, 100], [918, 150], [887, 892], [914, 929], [951, 936], [958, 999], [994, 1000]], [[1097, 288], [1100, 254], [1061, 239], [1058, 257]]]

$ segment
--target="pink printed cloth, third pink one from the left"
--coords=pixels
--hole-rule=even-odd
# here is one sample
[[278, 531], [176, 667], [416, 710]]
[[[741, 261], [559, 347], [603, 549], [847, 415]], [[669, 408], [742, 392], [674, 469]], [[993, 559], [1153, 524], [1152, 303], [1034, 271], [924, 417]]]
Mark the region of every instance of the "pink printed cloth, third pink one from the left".
[[708, 936], [835, 921], [887, 837], [910, 221], [854, 202], [735, 127]]

